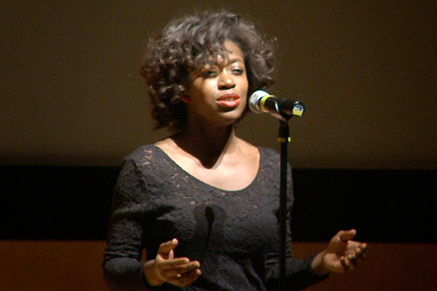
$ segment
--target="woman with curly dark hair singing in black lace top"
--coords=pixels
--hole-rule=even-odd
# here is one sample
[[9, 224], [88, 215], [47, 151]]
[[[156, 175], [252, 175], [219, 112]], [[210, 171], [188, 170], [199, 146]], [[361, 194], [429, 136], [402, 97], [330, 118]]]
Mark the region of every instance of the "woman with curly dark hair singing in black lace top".
[[[280, 157], [239, 139], [248, 96], [273, 83], [273, 40], [232, 12], [172, 21], [142, 65], [157, 128], [126, 156], [114, 188], [103, 270], [113, 290], [277, 290]], [[291, 254], [287, 290], [351, 270], [365, 243], [339, 231], [325, 251]], [[146, 260], [142, 261], [144, 254]]]

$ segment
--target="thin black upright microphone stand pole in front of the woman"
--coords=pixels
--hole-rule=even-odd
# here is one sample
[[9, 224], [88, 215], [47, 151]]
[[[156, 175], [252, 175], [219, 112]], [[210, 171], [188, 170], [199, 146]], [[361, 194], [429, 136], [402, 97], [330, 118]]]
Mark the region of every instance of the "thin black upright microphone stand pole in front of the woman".
[[288, 143], [290, 139], [289, 119], [292, 115], [281, 114], [277, 141], [280, 143], [280, 261], [279, 261], [279, 290], [285, 290], [286, 283], [286, 194], [287, 194], [287, 166]]

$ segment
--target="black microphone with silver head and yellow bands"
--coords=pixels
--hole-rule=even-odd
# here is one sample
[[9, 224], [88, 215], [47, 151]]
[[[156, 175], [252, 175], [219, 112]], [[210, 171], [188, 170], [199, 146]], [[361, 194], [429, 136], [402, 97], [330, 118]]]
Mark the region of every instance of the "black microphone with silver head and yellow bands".
[[255, 91], [249, 98], [249, 107], [255, 113], [270, 113], [276, 118], [284, 119], [292, 116], [302, 116], [305, 105], [286, 98], [277, 98], [266, 91]]

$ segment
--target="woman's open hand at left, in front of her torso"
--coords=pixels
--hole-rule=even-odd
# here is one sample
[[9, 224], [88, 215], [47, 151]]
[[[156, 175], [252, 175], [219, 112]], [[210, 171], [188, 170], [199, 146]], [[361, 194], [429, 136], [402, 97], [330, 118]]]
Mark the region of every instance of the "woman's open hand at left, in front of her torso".
[[189, 258], [174, 258], [173, 249], [178, 245], [178, 240], [173, 238], [162, 243], [154, 260], [147, 261], [144, 265], [144, 276], [149, 285], [157, 286], [164, 282], [178, 286], [191, 285], [201, 272], [198, 261], [189, 261]]

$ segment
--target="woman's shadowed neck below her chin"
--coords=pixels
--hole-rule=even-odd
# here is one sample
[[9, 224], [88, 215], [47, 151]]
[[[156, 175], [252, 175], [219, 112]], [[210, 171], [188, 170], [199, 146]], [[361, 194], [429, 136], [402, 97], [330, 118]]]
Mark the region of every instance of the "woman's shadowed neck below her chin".
[[233, 125], [220, 128], [190, 127], [172, 136], [172, 139], [182, 150], [196, 157], [205, 168], [214, 168], [225, 152], [235, 150], [237, 145]]

